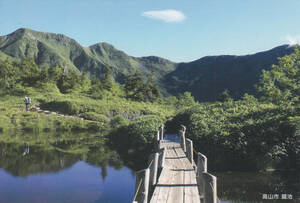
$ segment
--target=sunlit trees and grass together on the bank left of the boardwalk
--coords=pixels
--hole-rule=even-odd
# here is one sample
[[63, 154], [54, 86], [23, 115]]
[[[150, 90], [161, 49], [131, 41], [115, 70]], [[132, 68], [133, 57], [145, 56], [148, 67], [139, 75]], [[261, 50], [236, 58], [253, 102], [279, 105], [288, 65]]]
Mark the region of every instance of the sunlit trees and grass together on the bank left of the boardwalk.
[[[0, 75], [2, 131], [108, 132], [118, 122], [126, 124], [146, 115], [165, 120], [174, 114], [168, 103], [179, 105], [181, 101], [163, 99], [151, 76], [143, 78], [139, 72], [128, 75], [126, 84], [119, 85], [109, 68], [102, 78], [89, 79], [86, 73], [67, 71], [60, 66], [40, 68], [32, 60], [0, 60]], [[138, 96], [133, 96], [134, 92]], [[31, 106], [74, 117], [24, 112], [25, 95], [32, 98]]]

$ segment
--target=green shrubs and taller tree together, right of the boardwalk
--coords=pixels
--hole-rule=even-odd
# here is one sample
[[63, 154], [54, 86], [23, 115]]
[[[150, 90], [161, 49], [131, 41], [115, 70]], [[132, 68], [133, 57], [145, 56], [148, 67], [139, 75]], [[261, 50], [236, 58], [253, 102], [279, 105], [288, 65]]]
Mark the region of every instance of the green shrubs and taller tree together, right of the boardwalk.
[[263, 71], [257, 99], [234, 101], [228, 91], [216, 103], [181, 111], [168, 126], [187, 126], [187, 136], [209, 157], [210, 168], [260, 170], [299, 168], [300, 52]]

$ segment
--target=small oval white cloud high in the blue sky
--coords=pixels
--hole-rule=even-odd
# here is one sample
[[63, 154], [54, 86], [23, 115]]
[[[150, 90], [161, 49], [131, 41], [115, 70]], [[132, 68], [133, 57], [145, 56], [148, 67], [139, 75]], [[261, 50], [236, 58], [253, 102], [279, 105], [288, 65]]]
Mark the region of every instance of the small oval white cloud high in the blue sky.
[[186, 19], [185, 15], [181, 11], [172, 9], [145, 11], [142, 15], [148, 18], [163, 20], [167, 23], [182, 22]]

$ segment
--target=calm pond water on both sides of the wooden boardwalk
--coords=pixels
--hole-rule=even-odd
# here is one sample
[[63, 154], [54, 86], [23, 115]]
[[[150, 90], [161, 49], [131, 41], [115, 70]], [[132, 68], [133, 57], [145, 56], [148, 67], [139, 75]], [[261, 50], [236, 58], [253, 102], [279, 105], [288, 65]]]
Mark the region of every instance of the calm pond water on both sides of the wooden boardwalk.
[[[129, 203], [139, 167], [120, 154], [97, 134], [0, 134], [0, 202]], [[222, 202], [299, 195], [295, 172], [213, 174]]]

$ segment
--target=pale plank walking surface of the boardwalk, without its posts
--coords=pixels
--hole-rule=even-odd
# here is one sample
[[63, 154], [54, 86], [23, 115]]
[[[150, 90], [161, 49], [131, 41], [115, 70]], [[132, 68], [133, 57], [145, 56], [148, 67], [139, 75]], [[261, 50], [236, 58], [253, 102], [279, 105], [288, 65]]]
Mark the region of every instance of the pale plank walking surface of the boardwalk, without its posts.
[[179, 143], [167, 142], [164, 168], [150, 203], [200, 203], [196, 173]]

